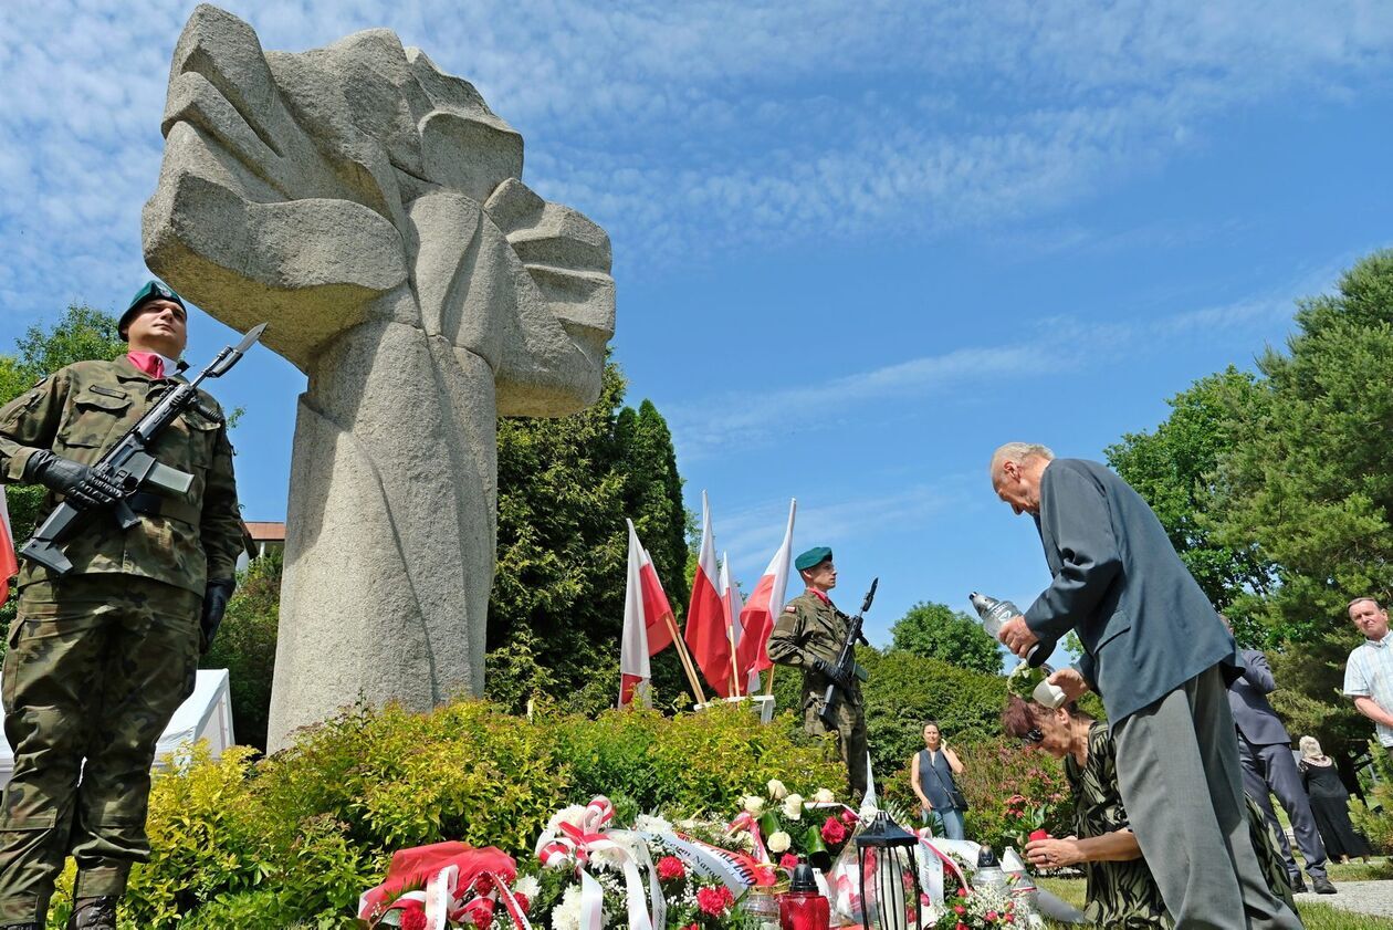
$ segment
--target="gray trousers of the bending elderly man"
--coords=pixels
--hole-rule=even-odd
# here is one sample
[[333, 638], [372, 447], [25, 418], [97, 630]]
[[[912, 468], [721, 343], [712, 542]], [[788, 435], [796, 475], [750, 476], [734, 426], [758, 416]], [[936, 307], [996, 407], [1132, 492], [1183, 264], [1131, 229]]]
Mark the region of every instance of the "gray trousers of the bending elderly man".
[[1133, 832], [1178, 930], [1295, 930], [1248, 838], [1238, 740], [1219, 666], [1113, 725]]

